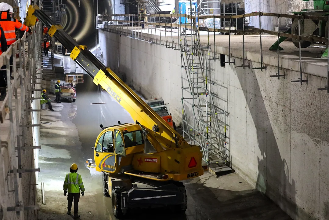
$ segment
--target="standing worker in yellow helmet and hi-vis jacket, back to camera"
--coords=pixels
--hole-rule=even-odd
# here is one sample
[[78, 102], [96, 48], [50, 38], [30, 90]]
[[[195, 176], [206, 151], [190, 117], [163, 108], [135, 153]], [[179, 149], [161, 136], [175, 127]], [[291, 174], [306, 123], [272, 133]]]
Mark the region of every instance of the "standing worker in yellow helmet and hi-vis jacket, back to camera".
[[71, 215], [72, 202], [74, 200], [74, 216], [73, 218], [80, 218], [78, 215], [78, 202], [81, 195], [85, 195], [85, 187], [83, 186], [81, 175], [77, 174], [78, 166], [74, 163], [70, 167], [70, 173], [66, 174], [63, 190], [64, 196], [67, 194], [67, 214]]

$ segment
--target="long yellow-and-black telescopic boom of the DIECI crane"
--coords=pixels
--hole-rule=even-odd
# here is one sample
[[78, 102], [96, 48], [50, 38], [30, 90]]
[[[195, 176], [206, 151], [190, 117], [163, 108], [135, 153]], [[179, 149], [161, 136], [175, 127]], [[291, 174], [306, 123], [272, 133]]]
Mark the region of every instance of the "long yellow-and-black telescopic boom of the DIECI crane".
[[[104, 66], [86, 46], [79, 45], [60, 25], [42, 12], [38, 6], [30, 5], [25, 24], [35, 25], [36, 18], [49, 28], [49, 35], [55, 37], [67, 50], [70, 57], [93, 78], [96, 85], [106, 90], [134, 121], [138, 121], [148, 132], [148, 140], [156, 151], [170, 148], [186, 148], [190, 145], [167, 124], [150, 106], [148, 106], [129, 86], [127, 86], [110, 68]], [[156, 125], [155, 131], [152, 127]], [[158, 144], [158, 145], [157, 145]]]

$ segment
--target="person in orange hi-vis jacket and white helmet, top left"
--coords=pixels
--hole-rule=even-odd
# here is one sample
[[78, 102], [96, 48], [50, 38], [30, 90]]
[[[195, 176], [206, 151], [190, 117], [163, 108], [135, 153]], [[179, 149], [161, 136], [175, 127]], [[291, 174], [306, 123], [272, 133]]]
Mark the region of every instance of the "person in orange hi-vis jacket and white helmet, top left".
[[[32, 34], [31, 28], [25, 26], [15, 18], [12, 18], [13, 7], [5, 2], [0, 3], [0, 25], [5, 33], [8, 47], [16, 41], [15, 28]], [[10, 57], [10, 75], [12, 75], [13, 55]], [[2, 67], [6, 68], [6, 67]], [[13, 78], [11, 76], [11, 78]]]

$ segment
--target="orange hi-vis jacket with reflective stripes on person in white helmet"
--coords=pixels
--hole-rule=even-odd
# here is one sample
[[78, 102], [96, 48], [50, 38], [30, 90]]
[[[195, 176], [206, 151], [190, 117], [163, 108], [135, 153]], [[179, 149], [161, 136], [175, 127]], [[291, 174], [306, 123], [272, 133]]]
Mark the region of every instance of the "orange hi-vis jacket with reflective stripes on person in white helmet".
[[29, 27], [25, 26], [15, 18], [12, 18], [8, 11], [0, 13], [0, 25], [5, 33], [7, 45], [11, 45], [16, 41], [15, 28], [21, 31], [31, 32]]

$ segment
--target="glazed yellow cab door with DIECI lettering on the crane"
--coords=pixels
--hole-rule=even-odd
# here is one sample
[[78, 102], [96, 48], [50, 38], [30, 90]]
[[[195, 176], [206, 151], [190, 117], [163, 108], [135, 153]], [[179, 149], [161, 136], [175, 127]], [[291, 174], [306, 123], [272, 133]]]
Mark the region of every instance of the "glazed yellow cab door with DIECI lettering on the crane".
[[114, 173], [116, 170], [116, 157], [113, 146], [113, 129], [105, 130], [96, 142], [94, 152], [97, 171]]

